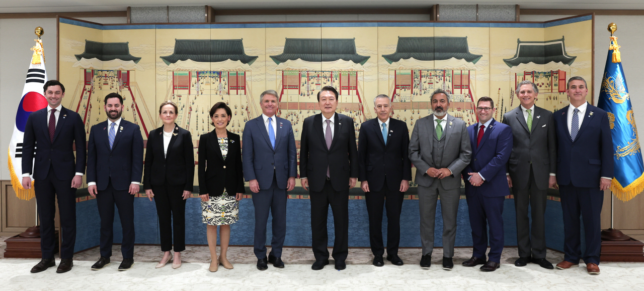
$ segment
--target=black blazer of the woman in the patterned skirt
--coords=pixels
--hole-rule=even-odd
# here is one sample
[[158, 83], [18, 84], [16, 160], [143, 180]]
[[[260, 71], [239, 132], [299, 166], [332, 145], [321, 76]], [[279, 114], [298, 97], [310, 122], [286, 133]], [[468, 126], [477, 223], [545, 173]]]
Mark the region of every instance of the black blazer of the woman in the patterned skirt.
[[228, 154], [223, 160], [216, 132], [202, 134], [199, 139], [199, 193], [220, 196], [223, 188], [228, 195], [246, 193], [243, 184], [242, 147], [240, 136], [228, 132]]

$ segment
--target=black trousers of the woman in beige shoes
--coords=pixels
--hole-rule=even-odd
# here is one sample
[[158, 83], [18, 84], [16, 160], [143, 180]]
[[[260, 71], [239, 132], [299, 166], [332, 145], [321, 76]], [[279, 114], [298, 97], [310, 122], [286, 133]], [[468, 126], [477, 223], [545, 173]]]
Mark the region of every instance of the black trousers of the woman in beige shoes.
[[[159, 218], [159, 234], [161, 236], [161, 251], [172, 249], [175, 238], [175, 252], [185, 251], [185, 200], [182, 185], [152, 185], [155, 193], [156, 215]], [[174, 228], [174, 232], [173, 232]]]

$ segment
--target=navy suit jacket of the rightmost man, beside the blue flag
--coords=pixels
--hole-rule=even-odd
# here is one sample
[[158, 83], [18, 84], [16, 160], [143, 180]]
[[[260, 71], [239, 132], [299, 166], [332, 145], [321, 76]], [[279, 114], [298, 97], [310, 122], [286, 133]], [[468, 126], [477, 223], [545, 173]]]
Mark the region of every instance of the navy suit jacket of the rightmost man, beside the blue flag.
[[567, 115], [568, 106], [554, 112], [559, 145], [557, 184], [573, 184], [575, 187], [587, 188], [599, 187], [600, 178], [612, 178], [614, 170], [608, 114], [606, 111], [588, 104], [582, 126], [574, 141], [570, 138]]

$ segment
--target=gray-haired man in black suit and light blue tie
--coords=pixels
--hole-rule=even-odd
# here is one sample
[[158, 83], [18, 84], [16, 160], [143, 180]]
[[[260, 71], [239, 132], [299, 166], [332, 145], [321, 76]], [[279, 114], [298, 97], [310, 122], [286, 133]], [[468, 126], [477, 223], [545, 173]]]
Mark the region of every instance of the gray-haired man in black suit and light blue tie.
[[403, 260], [398, 256], [401, 210], [404, 192], [412, 180], [412, 164], [407, 154], [409, 130], [404, 121], [390, 118], [392, 103], [389, 96], [375, 96], [374, 110], [377, 118], [365, 121], [360, 127], [358, 178], [366, 195], [374, 266], [384, 265], [383, 206], [387, 209], [387, 260], [401, 266]]

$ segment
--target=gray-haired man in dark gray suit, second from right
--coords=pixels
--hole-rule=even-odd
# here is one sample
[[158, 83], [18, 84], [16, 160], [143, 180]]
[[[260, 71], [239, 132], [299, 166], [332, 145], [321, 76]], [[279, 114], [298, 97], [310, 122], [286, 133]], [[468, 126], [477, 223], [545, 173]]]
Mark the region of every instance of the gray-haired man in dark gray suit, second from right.
[[[512, 154], [507, 162], [507, 184], [515, 196], [516, 242], [519, 258], [516, 267], [532, 262], [554, 269], [545, 260], [545, 198], [548, 188], [556, 187], [557, 141], [553, 112], [536, 107], [539, 89], [533, 82], [516, 85], [521, 105], [503, 116], [512, 128]], [[528, 220], [531, 206], [532, 227]]]

